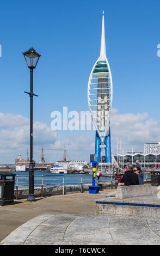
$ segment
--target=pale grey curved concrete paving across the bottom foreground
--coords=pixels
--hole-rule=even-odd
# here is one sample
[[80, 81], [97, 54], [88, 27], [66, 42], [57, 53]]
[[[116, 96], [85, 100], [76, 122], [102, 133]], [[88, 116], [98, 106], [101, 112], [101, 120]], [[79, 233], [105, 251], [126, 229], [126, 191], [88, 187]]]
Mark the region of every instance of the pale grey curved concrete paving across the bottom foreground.
[[153, 219], [141, 217], [44, 214], [1, 245], [160, 245], [159, 233]]

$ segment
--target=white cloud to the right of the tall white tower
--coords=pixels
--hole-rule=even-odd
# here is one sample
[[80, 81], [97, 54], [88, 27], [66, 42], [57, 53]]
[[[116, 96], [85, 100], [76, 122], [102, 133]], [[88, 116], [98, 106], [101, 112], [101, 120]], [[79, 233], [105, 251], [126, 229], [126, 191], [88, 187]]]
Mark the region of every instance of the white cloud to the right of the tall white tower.
[[160, 141], [160, 120], [151, 119], [148, 113], [120, 114], [113, 109], [110, 125], [114, 148], [117, 137], [122, 140], [122, 148], [133, 147], [137, 151], [143, 151], [145, 141]]

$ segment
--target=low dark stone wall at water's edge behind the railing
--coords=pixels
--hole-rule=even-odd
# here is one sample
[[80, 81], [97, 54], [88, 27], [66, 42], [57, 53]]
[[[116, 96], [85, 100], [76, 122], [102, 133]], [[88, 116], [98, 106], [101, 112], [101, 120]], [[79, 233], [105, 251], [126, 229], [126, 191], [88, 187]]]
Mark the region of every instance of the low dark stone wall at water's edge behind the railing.
[[[82, 186], [82, 191], [88, 191], [89, 186], [91, 184], [83, 185]], [[104, 190], [105, 188], [110, 188], [111, 184], [110, 183], [100, 183], [100, 190]], [[81, 192], [81, 185], [69, 185], [65, 186], [64, 188], [64, 193], [79, 193]], [[58, 194], [63, 194], [63, 186], [57, 186], [57, 187], [44, 187], [43, 188], [43, 196], [53, 196], [53, 195], [58, 195]], [[41, 197], [41, 187], [37, 187], [34, 189], [34, 196], [35, 197]], [[14, 198], [16, 198], [16, 190], [14, 191]], [[22, 198], [28, 198], [28, 188], [20, 188], [18, 190], [18, 195], [17, 199], [22, 199]]]

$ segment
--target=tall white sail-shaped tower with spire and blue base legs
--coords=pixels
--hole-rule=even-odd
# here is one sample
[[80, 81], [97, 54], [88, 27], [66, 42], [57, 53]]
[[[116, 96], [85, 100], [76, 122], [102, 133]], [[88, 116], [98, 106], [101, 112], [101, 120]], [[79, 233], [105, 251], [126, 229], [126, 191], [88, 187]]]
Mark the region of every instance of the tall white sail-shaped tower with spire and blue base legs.
[[97, 162], [102, 162], [102, 156], [104, 155], [105, 162], [112, 163], [110, 143], [112, 97], [112, 75], [106, 57], [103, 12], [100, 57], [91, 70], [88, 82], [88, 105], [96, 128], [95, 161]]

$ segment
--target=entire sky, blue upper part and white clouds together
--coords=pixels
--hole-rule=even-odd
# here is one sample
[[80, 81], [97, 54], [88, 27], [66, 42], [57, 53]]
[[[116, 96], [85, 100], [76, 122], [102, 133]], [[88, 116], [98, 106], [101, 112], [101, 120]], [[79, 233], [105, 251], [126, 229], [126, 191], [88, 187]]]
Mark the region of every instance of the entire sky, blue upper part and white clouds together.
[[[29, 149], [29, 69], [22, 52], [41, 54], [34, 70], [34, 159], [87, 160], [95, 131], [53, 131], [51, 113], [88, 111], [91, 69], [100, 56], [102, 11], [113, 78], [112, 151], [143, 151], [160, 141], [159, 1], [3, 1], [0, 9], [0, 163]], [[59, 150], [52, 150], [59, 149]]]

